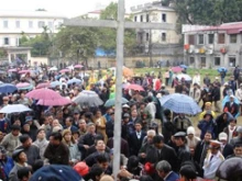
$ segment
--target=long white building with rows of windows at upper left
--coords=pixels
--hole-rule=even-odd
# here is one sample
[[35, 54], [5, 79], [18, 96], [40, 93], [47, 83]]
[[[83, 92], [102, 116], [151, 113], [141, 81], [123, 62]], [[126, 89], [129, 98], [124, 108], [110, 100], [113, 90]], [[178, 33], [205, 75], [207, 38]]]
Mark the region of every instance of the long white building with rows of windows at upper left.
[[19, 46], [19, 38], [24, 33], [34, 37], [47, 26], [50, 33], [57, 33], [65, 16], [47, 11], [0, 11], [0, 47]]

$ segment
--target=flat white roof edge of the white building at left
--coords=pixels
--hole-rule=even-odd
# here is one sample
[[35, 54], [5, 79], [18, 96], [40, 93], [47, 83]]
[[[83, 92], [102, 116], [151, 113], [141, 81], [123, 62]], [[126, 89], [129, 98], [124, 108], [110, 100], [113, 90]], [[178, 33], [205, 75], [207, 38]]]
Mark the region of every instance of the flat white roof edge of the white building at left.
[[0, 18], [50, 18], [65, 19], [63, 14], [48, 11], [0, 11]]

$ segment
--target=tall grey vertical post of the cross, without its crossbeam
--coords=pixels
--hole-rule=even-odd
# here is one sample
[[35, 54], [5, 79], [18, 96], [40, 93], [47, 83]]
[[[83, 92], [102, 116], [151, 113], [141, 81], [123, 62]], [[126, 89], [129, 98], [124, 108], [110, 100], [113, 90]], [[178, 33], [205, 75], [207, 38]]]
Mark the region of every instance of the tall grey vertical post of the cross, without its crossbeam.
[[122, 112], [122, 68], [123, 68], [123, 39], [124, 39], [124, 0], [118, 3], [118, 27], [117, 27], [117, 70], [116, 70], [116, 114], [114, 114], [114, 150], [113, 150], [113, 174], [120, 170], [120, 143], [121, 143], [121, 112]]

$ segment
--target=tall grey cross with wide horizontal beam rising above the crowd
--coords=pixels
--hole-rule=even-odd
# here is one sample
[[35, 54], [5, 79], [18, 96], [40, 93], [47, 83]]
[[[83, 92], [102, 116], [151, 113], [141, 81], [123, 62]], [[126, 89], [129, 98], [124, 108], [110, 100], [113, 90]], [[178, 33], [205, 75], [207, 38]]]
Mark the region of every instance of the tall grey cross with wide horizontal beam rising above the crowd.
[[120, 143], [121, 143], [121, 112], [122, 112], [122, 67], [123, 67], [123, 39], [124, 29], [147, 29], [147, 30], [174, 30], [169, 23], [134, 23], [124, 21], [124, 0], [118, 2], [118, 20], [65, 20], [66, 26], [92, 26], [117, 29], [117, 71], [116, 71], [116, 112], [114, 112], [114, 151], [113, 151], [113, 176], [120, 170]]

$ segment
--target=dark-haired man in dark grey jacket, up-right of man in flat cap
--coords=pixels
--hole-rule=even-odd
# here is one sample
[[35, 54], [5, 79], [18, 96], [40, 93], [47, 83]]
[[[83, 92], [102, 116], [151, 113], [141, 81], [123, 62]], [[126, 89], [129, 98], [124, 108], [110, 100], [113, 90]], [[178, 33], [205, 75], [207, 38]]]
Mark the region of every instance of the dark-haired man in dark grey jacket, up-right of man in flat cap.
[[22, 145], [15, 149], [23, 149], [28, 157], [28, 163], [33, 166], [36, 160], [41, 159], [38, 147], [32, 144], [31, 137], [26, 134], [21, 135], [19, 138]]

